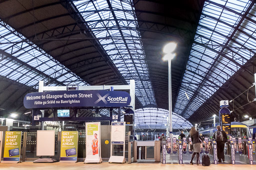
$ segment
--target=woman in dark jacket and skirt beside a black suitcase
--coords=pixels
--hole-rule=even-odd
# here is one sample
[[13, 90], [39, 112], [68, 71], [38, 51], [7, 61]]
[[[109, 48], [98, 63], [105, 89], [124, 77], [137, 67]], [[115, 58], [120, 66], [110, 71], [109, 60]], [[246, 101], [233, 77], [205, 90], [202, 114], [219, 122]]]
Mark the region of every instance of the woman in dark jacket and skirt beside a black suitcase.
[[200, 140], [202, 140], [202, 138], [199, 136], [199, 133], [198, 131], [195, 130], [195, 127], [192, 127], [191, 130], [190, 130], [190, 136], [191, 136], [191, 141], [192, 141], [192, 144], [193, 144], [193, 154], [192, 154], [192, 157], [191, 157], [191, 161], [190, 161], [190, 165], [193, 165], [193, 159], [194, 159], [194, 156], [196, 154], [196, 165], [198, 166], [199, 165], [199, 152], [201, 151], [201, 148], [200, 148]]

